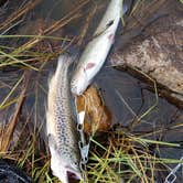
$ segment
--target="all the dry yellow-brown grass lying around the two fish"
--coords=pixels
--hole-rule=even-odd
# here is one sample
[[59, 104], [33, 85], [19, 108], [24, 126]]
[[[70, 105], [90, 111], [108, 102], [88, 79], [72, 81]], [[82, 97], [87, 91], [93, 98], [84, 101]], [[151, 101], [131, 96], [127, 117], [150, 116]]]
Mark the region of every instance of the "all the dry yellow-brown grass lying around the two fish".
[[[0, 25], [0, 157], [9, 159], [33, 179], [34, 182], [56, 183], [50, 170], [50, 155], [44, 146], [44, 108], [46, 96], [46, 79], [54, 58], [67, 51], [73, 43], [83, 44], [86, 32], [97, 8], [90, 11], [83, 32], [78, 37], [64, 35], [54, 36], [53, 33], [62, 30], [72, 21], [82, 18], [82, 8], [89, 0], [83, 0], [64, 18], [42, 28], [36, 35], [7, 34], [13, 25], [23, 21], [26, 14], [41, 0], [30, 1], [10, 14]], [[141, 4], [143, 1], [139, 1]], [[159, 4], [160, 6], [160, 4]], [[3, 44], [6, 41], [22, 41], [20, 45]], [[15, 40], [15, 41], [14, 41]], [[52, 47], [52, 41], [61, 41], [63, 45]], [[44, 43], [44, 44], [43, 44]], [[14, 71], [11, 71], [14, 69]], [[14, 74], [15, 73], [15, 74]], [[29, 75], [31, 73], [31, 75]], [[11, 75], [11, 76], [10, 76]], [[46, 75], [46, 76], [45, 76]], [[45, 78], [46, 77], [46, 78]], [[3, 93], [2, 93], [3, 89]], [[142, 116], [138, 117], [131, 129], [141, 122], [158, 104], [157, 85], [155, 101]], [[121, 101], [122, 103], [122, 101]], [[129, 107], [129, 110], [130, 107]], [[2, 117], [2, 118], [1, 118]], [[179, 148], [177, 143], [151, 140], [152, 134], [169, 130], [182, 131], [183, 123], [171, 125], [168, 129], [146, 131], [143, 133], [121, 132], [115, 130], [108, 133], [107, 139], [92, 139], [89, 162], [87, 164], [87, 182], [144, 182], [153, 183], [154, 176], [163, 176], [166, 163], [179, 163], [175, 159], [161, 159], [151, 150], [161, 147]], [[39, 140], [37, 140], [39, 139]]]

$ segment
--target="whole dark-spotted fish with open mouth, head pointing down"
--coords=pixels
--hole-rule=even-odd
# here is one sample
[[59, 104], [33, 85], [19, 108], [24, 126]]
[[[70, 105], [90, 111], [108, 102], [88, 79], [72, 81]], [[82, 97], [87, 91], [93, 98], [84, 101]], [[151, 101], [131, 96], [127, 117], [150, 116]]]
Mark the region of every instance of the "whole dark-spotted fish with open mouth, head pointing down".
[[72, 57], [61, 55], [54, 75], [49, 82], [46, 136], [51, 152], [51, 170], [62, 183], [68, 174], [82, 180], [77, 123], [72, 114], [68, 68]]

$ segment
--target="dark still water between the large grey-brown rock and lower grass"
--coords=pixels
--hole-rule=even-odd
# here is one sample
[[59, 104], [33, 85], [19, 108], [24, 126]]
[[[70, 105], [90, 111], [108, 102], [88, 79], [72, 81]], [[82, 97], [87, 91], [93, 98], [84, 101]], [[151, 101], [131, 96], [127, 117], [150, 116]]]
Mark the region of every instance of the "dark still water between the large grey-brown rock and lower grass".
[[[155, 103], [155, 94], [149, 92], [147, 85], [133, 78], [125, 72], [104, 67], [96, 78], [101, 88], [105, 101], [112, 111], [115, 122], [122, 127], [129, 127], [136, 120], [136, 116], [144, 115]], [[116, 90], [120, 93], [122, 100]], [[183, 134], [180, 128], [173, 128], [182, 122], [183, 114], [165, 99], [159, 98], [157, 107], [142, 118], [141, 122], [133, 127], [132, 131], [142, 137], [161, 139], [162, 141], [182, 141]], [[159, 132], [155, 132], [159, 131]], [[161, 152], [166, 158], [180, 158], [183, 150], [166, 149]]]

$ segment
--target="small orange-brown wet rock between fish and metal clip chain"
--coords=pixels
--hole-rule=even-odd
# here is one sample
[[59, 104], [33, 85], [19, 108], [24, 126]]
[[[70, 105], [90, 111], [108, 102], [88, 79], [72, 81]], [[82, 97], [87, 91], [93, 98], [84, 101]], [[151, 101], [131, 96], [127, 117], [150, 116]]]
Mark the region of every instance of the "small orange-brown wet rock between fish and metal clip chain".
[[84, 131], [95, 133], [111, 128], [111, 114], [105, 106], [95, 86], [90, 86], [82, 96], [77, 97], [77, 110], [85, 110]]

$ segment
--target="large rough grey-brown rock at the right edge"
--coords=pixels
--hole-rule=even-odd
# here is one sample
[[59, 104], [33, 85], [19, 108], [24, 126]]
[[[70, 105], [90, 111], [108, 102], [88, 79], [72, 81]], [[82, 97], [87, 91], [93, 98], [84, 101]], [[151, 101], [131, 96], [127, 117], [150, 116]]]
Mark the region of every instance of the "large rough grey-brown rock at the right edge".
[[118, 47], [110, 61], [134, 75], [147, 74], [158, 82], [162, 96], [182, 108], [183, 4], [169, 0], [160, 11], [165, 13], [147, 24], [126, 46]]

